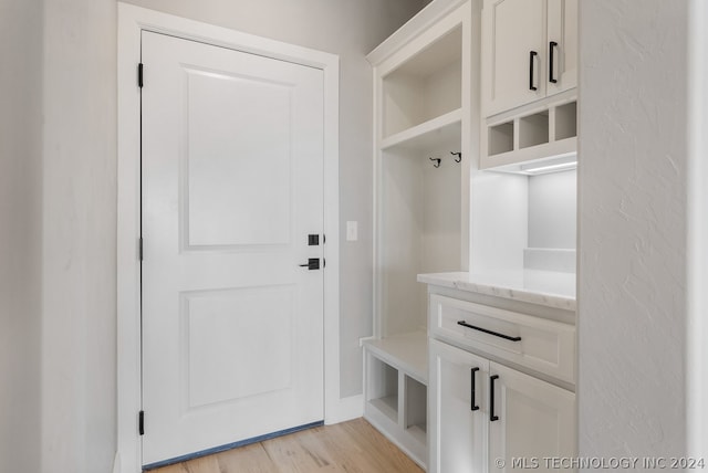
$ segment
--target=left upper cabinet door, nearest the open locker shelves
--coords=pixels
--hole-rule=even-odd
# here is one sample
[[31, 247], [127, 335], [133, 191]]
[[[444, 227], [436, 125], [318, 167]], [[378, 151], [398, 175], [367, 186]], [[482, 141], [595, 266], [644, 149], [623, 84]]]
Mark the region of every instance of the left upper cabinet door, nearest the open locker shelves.
[[485, 0], [482, 106], [494, 115], [545, 96], [546, 0]]

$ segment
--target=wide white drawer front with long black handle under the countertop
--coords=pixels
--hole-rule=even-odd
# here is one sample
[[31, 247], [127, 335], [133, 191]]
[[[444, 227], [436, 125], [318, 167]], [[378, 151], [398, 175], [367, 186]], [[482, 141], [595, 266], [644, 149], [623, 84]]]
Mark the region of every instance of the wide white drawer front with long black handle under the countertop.
[[473, 348], [575, 383], [575, 327], [430, 294], [429, 329]]

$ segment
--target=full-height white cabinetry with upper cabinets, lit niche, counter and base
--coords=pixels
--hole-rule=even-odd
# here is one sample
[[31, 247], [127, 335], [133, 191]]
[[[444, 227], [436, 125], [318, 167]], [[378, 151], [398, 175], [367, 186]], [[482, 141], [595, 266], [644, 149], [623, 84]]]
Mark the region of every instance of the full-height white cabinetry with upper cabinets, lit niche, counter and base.
[[553, 470], [577, 451], [575, 17], [575, 0], [483, 2], [469, 270], [419, 276], [429, 472]]

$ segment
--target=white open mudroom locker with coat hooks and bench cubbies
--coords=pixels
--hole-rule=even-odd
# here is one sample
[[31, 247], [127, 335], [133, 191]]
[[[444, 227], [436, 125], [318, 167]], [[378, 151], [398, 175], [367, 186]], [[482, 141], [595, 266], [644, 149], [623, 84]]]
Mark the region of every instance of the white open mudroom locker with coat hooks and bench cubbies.
[[368, 55], [375, 96], [374, 339], [364, 416], [427, 463], [427, 294], [468, 260], [469, 1], [437, 1]]

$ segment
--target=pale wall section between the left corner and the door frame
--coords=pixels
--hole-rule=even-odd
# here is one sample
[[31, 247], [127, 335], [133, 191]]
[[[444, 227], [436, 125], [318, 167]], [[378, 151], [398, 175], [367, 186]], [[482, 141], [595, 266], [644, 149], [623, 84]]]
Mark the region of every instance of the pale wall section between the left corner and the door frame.
[[[110, 472], [116, 449], [114, 0], [46, 0], [42, 472]], [[19, 471], [29, 471], [21, 469]]]

